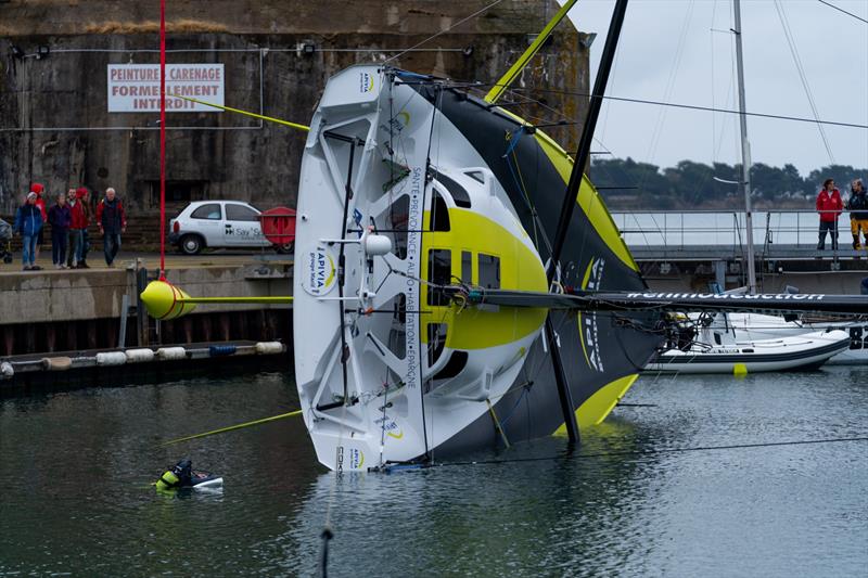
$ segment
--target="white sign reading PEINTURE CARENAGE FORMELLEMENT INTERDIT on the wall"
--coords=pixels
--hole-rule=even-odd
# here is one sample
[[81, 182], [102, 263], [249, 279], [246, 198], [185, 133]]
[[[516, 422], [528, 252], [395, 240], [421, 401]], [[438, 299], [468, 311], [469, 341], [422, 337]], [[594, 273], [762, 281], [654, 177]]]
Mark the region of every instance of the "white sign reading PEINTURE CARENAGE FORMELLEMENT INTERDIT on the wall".
[[[110, 64], [110, 113], [158, 113], [158, 64]], [[206, 106], [177, 95], [189, 97], [214, 104], [224, 104], [222, 64], [167, 64], [167, 113], [220, 113], [220, 108]]]

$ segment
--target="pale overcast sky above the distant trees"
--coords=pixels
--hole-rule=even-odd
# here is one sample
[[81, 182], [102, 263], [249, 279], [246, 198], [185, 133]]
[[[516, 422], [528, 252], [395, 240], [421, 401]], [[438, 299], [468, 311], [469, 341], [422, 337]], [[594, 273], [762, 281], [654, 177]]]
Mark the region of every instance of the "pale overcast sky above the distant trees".
[[[828, 1], [868, 20], [868, 0]], [[789, 24], [817, 117], [868, 125], [868, 24], [817, 0], [742, 1], [748, 112], [814, 117], [776, 4]], [[570, 13], [579, 30], [599, 35], [591, 82], [613, 7], [614, 0], [579, 0]], [[732, 26], [730, 0], [631, 0], [607, 93], [737, 108]], [[835, 163], [868, 167], [868, 129], [824, 130]], [[749, 117], [748, 136], [754, 163], [792, 163], [803, 176], [831, 163], [813, 123]], [[737, 115], [607, 101], [596, 138], [597, 150], [660, 166], [685, 158], [741, 159]]]

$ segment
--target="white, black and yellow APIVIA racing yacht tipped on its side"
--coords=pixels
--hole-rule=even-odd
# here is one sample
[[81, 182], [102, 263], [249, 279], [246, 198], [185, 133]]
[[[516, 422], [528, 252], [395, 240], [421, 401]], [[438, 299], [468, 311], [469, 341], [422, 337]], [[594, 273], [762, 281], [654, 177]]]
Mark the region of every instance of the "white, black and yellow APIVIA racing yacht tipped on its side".
[[573, 411], [599, 423], [677, 325], [667, 312], [868, 310], [858, 296], [649, 293], [584, 177], [549, 283], [575, 172], [465, 86], [382, 65], [329, 80], [302, 162], [293, 285], [321, 463], [426, 463], [569, 431]]

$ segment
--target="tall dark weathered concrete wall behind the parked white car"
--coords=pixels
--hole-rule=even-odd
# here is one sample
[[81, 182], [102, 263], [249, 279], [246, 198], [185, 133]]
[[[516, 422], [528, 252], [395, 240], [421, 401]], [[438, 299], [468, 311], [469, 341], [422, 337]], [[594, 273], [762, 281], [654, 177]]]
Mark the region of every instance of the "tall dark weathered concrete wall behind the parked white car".
[[[392, 49], [411, 47], [488, 3], [173, 1], [168, 49], [181, 52], [168, 62], [224, 63], [227, 105], [306, 124], [329, 75], [357, 62], [381, 62]], [[156, 206], [158, 115], [107, 113], [106, 65], [158, 62], [157, 10], [156, 1], [0, 3], [0, 214], [12, 211], [31, 181], [52, 192], [111, 185], [132, 210]], [[553, 2], [507, 0], [393, 64], [495, 81], [553, 10]], [[520, 82], [588, 92], [583, 39], [562, 26]], [[315, 52], [296, 50], [305, 43]], [[13, 46], [28, 56], [14, 56]], [[40, 46], [50, 55], [31, 57]], [[537, 98], [570, 119], [584, 117], [584, 98]], [[540, 121], [563, 118], [539, 105], [512, 110]], [[169, 114], [167, 127], [170, 192], [294, 205], [304, 133], [229, 113]], [[550, 132], [574, 150], [579, 130]]]

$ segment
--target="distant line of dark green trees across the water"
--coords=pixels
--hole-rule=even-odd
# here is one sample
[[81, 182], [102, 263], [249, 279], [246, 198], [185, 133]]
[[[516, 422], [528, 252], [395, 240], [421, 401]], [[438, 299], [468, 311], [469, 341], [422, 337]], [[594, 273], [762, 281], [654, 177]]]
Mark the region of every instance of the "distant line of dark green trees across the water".
[[[715, 180], [738, 181], [741, 165], [714, 163], [706, 165], [681, 160], [674, 167], [661, 168], [633, 158], [596, 158], [590, 179], [613, 209], [689, 209], [737, 208], [744, 205], [737, 184]], [[793, 165], [773, 167], [756, 163], [751, 167], [751, 198], [757, 208], [813, 209], [822, 181], [834, 179], [842, 195], [850, 192], [850, 182], [868, 180], [868, 168], [830, 165], [803, 177]]]

